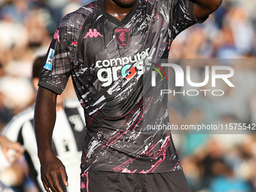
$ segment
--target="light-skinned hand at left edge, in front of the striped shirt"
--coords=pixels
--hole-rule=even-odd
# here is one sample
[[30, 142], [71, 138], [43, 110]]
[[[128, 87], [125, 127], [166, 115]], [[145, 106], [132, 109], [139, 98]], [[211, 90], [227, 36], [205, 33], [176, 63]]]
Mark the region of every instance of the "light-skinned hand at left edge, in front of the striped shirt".
[[15, 159], [20, 159], [23, 156], [24, 148], [20, 145], [18, 142], [11, 142], [9, 139], [7, 139], [5, 136], [0, 136], [0, 145], [2, 146], [2, 151], [5, 154], [5, 157], [10, 162], [10, 159], [8, 157], [8, 150], [14, 149], [16, 151]]

